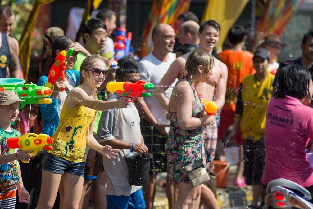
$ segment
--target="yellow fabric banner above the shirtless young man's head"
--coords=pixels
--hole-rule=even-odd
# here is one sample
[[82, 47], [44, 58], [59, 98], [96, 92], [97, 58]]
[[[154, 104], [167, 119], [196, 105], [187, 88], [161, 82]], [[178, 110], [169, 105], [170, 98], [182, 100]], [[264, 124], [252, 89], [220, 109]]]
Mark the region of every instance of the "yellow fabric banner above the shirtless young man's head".
[[222, 50], [228, 30], [237, 21], [249, 0], [208, 0], [201, 22], [213, 19], [221, 26], [217, 50]]

